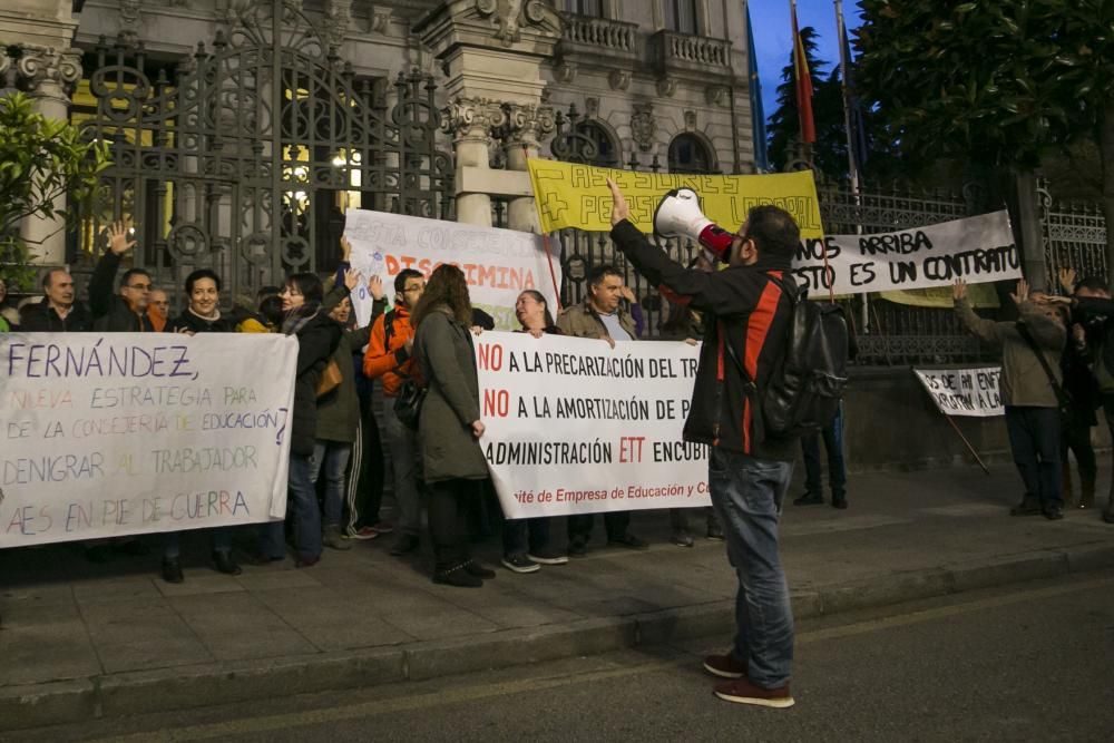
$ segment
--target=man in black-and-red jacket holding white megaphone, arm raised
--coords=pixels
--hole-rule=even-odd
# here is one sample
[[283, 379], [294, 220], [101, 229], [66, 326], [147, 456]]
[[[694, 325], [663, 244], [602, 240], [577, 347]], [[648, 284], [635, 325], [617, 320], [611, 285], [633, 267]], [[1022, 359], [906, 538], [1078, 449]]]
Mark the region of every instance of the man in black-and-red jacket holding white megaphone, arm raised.
[[707, 444], [712, 505], [739, 577], [734, 645], [705, 658], [730, 680], [715, 695], [768, 707], [793, 705], [793, 615], [781, 566], [778, 521], [793, 475], [797, 438], [765, 430], [766, 381], [784, 355], [798, 292], [791, 262], [800, 243], [793, 217], [776, 206], [751, 209], [737, 233], [715, 225], [691, 189], [671, 192], [654, 214], [655, 232], [696, 239], [723, 271], [685, 268], [649, 244], [608, 179], [612, 239], [635, 268], [675, 302], [705, 313], [705, 336], [684, 439]]

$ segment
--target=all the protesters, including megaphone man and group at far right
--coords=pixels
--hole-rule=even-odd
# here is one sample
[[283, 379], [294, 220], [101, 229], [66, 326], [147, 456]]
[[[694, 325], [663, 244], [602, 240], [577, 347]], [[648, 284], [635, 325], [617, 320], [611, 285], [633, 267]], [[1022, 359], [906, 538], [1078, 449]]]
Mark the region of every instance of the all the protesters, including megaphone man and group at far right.
[[[702, 509], [700, 516], [706, 538], [727, 542], [739, 578], [739, 626], [732, 648], [705, 658], [704, 668], [725, 680], [715, 690], [721, 698], [791, 706], [793, 618], [780, 564], [778, 521], [798, 448], [803, 448], [808, 481], [805, 493], [794, 502], [823, 502], [822, 441], [831, 505], [848, 506], [842, 408], [828, 427], [800, 443], [795, 437], [761, 436], [749, 408], [747, 384], [763, 389], [782, 354], [792, 305], [792, 290], [784, 287], [782, 278], [791, 268], [799, 231], [786, 212], [756, 207], [737, 234], [723, 233], [719, 241], [725, 271], [713, 270], [706, 261], [685, 267], [649, 245], [629, 224], [622, 193], [614, 184], [609, 186], [616, 247], [652, 284], [677, 300], [670, 324], [685, 339], [678, 342], [705, 341], [685, 439], [711, 447], [713, 507]], [[256, 528], [252, 561], [284, 560], [292, 551], [295, 565], [309, 568], [322, 559], [326, 547], [351, 549], [353, 540], [391, 532], [397, 534], [390, 555], [408, 558], [419, 551], [422, 535], [428, 534], [434, 583], [481, 587], [496, 577], [471, 554], [477, 515], [482, 520], [491, 495], [479, 444], [485, 426], [473, 343], [494, 322], [472, 306], [458, 267], [440, 265], [429, 276], [408, 268], [387, 277], [394, 289], [393, 306], [388, 309], [383, 277], [365, 282], [358, 275], [349, 265], [351, 245], [342, 239], [342, 262], [328, 282], [314, 273], [294, 273], [283, 285], [261, 290], [254, 306], [245, 307], [222, 302], [221, 276], [208, 268], [189, 273], [180, 294], [179, 287], [154, 286], [150, 274], [139, 267], [117, 278], [135, 245], [125, 224], [109, 228], [108, 251], [89, 282], [88, 305], [77, 300], [74, 277], [65, 270], [48, 271], [41, 280], [41, 300], [20, 307], [6, 304], [8, 287], [0, 281], [0, 332], [293, 336], [299, 351], [287, 512], [285, 520]], [[624, 285], [623, 274], [604, 265], [587, 278], [584, 302], [556, 317], [543, 294], [521, 292], [515, 305], [519, 332], [539, 339], [546, 334], [595, 339], [612, 348], [637, 341], [645, 317]], [[1018, 282], [1012, 295], [1016, 322], [979, 317], [967, 303], [966, 284], [957, 281], [954, 289], [960, 321], [981, 340], [1001, 346], [1000, 393], [1010, 448], [1025, 487], [1010, 512], [1043, 515], [1049, 520], [1063, 518], [1069, 505], [1095, 506], [1097, 468], [1091, 428], [1097, 424], [1098, 407], [1114, 436], [1114, 300], [1100, 278], [1076, 283], [1072, 272], [1064, 272], [1061, 282], [1067, 295], [1030, 291], [1025, 281]], [[364, 325], [355, 322], [350, 296], [361, 285], [373, 300], [370, 322]], [[170, 316], [175, 296], [184, 309]], [[740, 366], [736, 373], [724, 362], [724, 348], [736, 345], [746, 349], [745, 372]], [[377, 381], [382, 400], [379, 414], [372, 404]], [[742, 410], [732, 410], [726, 418], [713, 412], [720, 410], [721, 393]], [[413, 404], [419, 395], [420, 408]], [[1077, 499], [1067, 467], [1069, 453], [1079, 470]], [[392, 486], [395, 524], [383, 518], [384, 482]], [[694, 544], [691, 511], [673, 509], [670, 515], [671, 540], [680, 547]], [[1103, 518], [1114, 522], [1114, 483]], [[558, 520], [502, 519], [502, 566], [529, 574], [585, 556], [593, 516], [567, 517], [564, 542], [554, 528]], [[631, 529], [629, 512], [606, 512], [603, 520], [608, 546], [646, 548], [646, 541]], [[235, 529], [206, 531], [214, 567], [240, 574], [233, 550]], [[159, 538], [163, 577], [182, 583], [180, 534], [165, 532]], [[136, 538], [88, 541], [85, 547], [94, 561], [111, 559], [117, 553], [148, 551]]]

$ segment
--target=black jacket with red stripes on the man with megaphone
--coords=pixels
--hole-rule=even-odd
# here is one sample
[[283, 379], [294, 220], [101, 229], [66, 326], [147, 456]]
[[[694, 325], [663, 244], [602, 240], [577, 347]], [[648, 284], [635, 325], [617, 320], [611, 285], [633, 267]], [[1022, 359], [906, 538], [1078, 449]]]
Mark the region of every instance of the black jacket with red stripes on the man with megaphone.
[[[755, 430], [754, 424], [766, 382], [784, 354], [792, 311], [789, 297], [770, 276], [793, 282], [790, 258], [762, 256], [755, 265], [709, 273], [676, 263], [629, 222], [617, 224], [612, 239], [651, 283], [664, 285], [675, 301], [704, 313], [704, 345], [685, 440], [792, 461], [795, 438], [763, 440], [762, 427]], [[746, 384], [740, 364], [756, 389]]]

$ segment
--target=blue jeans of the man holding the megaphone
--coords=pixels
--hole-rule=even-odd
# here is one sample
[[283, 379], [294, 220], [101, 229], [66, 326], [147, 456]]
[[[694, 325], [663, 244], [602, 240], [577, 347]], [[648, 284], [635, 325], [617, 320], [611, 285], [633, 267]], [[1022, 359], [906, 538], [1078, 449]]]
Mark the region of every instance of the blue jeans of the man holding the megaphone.
[[778, 553], [778, 519], [793, 462], [712, 447], [707, 473], [727, 558], [739, 576], [732, 655], [746, 662], [753, 684], [778, 688], [789, 682], [793, 662], [793, 612]]

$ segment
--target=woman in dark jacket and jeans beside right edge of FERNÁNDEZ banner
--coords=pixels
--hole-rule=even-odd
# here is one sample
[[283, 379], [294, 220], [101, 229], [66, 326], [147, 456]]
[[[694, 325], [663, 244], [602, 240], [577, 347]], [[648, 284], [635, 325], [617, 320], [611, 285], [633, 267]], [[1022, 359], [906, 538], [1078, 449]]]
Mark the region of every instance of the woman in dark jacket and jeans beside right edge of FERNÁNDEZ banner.
[[[324, 289], [316, 274], [292, 274], [278, 296], [282, 297], [284, 312], [282, 332], [297, 338], [294, 409], [290, 418], [290, 497], [286, 502], [294, 516], [297, 567], [310, 567], [321, 559], [321, 509], [313, 487], [317, 382], [341, 340], [341, 326], [321, 307]], [[286, 556], [284, 537], [283, 521], [264, 525], [258, 561], [283, 559]]]

